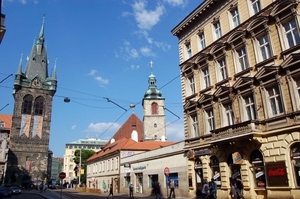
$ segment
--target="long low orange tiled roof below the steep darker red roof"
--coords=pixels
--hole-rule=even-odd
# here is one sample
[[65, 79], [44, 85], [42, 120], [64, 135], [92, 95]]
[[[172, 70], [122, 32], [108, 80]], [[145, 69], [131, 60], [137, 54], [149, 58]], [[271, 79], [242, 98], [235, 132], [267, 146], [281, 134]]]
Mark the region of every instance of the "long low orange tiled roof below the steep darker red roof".
[[161, 147], [169, 146], [174, 144], [174, 142], [166, 141], [146, 141], [146, 142], [136, 142], [131, 138], [122, 138], [113, 143], [107, 144], [101, 151], [98, 151], [93, 156], [91, 156], [87, 162], [100, 159], [106, 155], [114, 153], [116, 151], [151, 151]]

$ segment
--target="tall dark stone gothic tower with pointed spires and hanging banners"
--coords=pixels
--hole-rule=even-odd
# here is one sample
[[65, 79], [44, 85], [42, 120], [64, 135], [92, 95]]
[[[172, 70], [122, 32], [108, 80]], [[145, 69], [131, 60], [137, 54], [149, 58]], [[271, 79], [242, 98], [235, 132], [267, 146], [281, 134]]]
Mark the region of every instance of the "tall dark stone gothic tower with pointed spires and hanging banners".
[[49, 175], [48, 158], [52, 99], [56, 92], [56, 66], [48, 75], [44, 45], [44, 19], [36, 44], [27, 60], [25, 73], [20, 61], [14, 80], [15, 100], [6, 182], [37, 180]]

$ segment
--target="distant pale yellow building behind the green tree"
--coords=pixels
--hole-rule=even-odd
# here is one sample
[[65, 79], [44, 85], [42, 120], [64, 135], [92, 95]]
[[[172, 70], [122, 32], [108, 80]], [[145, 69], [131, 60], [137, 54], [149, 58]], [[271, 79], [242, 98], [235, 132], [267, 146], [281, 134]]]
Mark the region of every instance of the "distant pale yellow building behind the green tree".
[[101, 147], [103, 147], [107, 142], [108, 140], [100, 140], [98, 138], [86, 138], [86, 139], [79, 139], [77, 141], [67, 143], [65, 148], [63, 169], [62, 169], [62, 171], [66, 173], [66, 178], [64, 179], [64, 183], [65, 182], [71, 183], [72, 180], [77, 179], [74, 171], [75, 167], [77, 166], [76, 163], [74, 162], [76, 150], [85, 149], [85, 150], [93, 150], [97, 152], [100, 151]]

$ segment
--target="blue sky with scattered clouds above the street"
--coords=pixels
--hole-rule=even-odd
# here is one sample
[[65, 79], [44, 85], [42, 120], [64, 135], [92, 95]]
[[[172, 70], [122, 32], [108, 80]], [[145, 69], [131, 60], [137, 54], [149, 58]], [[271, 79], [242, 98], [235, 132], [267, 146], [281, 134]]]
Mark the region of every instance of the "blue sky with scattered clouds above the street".
[[54, 156], [63, 157], [65, 144], [80, 138], [110, 139], [133, 112], [143, 120], [150, 61], [170, 111], [167, 139], [182, 140], [178, 39], [171, 30], [201, 2], [3, 0], [7, 31], [0, 45], [0, 81], [13, 76], [0, 83], [0, 113], [13, 113], [14, 75], [22, 54], [24, 72], [45, 15], [49, 74], [56, 60], [58, 79], [50, 134]]

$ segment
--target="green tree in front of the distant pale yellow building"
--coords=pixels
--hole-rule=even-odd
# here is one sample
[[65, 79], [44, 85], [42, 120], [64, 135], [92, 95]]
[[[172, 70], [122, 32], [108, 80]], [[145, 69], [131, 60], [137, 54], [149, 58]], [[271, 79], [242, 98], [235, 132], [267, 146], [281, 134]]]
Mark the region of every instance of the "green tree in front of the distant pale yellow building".
[[[74, 169], [75, 174], [77, 173], [77, 175], [80, 175], [80, 181], [81, 181], [80, 184], [86, 183], [86, 161], [87, 161], [87, 159], [89, 159], [94, 154], [95, 154], [95, 151], [93, 151], [93, 150], [81, 149], [81, 165], [79, 165], [79, 163], [80, 163], [80, 150], [75, 151], [74, 162], [78, 165], [76, 167], [78, 168], [78, 167], [81, 166], [81, 169], [84, 170], [84, 174], [81, 174], [81, 173], [77, 173]], [[77, 171], [79, 171], [79, 170], [77, 170]]]

